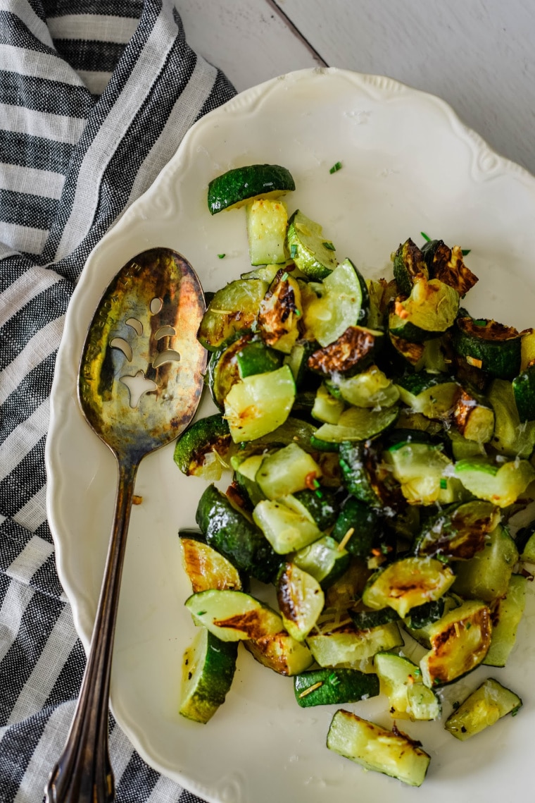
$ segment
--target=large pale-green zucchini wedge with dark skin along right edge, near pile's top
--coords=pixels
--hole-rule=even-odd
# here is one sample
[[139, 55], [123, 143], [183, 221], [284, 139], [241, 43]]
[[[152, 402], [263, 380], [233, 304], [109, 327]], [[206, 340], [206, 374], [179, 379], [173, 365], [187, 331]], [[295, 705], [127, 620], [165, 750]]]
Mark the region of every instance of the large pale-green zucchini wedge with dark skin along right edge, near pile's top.
[[320, 295], [306, 307], [305, 325], [321, 346], [338, 340], [348, 326], [367, 324], [368, 291], [351, 259], [337, 265], [318, 290]]

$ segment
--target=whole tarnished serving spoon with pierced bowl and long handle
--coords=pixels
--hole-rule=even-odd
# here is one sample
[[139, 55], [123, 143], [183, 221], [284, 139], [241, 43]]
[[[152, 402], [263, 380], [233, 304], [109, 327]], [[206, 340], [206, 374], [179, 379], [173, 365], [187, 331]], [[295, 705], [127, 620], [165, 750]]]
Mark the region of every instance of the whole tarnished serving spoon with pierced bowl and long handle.
[[49, 803], [110, 803], [108, 745], [111, 652], [136, 471], [176, 438], [201, 399], [205, 349], [201, 283], [176, 251], [152, 248], [112, 279], [87, 332], [79, 365], [83, 414], [116, 457], [119, 483], [103, 584], [82, 687], [45, 789]]

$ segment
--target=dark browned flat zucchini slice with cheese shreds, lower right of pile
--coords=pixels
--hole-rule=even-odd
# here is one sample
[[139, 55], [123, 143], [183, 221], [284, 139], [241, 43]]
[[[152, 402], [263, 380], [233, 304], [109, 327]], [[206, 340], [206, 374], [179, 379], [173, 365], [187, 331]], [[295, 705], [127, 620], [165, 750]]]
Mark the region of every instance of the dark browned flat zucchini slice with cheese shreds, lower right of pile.
[[453, 504], [426, 521], [415, 541], [415, 554], [468, 560], [485, 547], [500, 519], [499, 508], [491, 502], [473, 499]]

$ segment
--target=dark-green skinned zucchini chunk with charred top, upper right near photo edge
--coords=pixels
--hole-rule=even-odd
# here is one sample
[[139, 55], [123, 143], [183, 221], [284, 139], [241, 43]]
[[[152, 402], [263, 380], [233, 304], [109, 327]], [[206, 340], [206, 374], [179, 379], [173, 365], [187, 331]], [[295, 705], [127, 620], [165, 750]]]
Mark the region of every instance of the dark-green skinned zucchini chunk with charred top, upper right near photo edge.
[[498, 379], [520, 373], [521, 333], [487, 318], [457, 318], [453, 330], [456, 353], [472, 368]]

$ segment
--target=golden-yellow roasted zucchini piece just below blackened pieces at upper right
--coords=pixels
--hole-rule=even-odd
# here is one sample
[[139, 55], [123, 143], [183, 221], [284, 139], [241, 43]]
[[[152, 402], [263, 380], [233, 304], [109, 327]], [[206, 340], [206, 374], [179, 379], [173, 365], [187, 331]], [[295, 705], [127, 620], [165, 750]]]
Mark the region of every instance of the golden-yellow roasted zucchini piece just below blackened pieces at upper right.
[[396, 337], [415, 343], [440, 336], [450, 328], [459, 309], [459, 294], [439, 279], [415, 278], [411, 295], [398, 296], [388, 316], [388, 329]]

